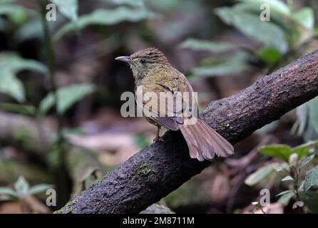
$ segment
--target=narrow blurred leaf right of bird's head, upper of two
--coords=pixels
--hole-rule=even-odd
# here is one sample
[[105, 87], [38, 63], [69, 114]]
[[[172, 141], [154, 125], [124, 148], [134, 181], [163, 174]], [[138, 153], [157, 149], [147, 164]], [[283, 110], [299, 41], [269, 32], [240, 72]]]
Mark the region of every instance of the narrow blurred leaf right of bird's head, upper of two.
[[190, 48], [193, 51], [211, 51], [214, 53], [230, 51], [236, 48], [236, 46], [232, 43], [204, 41], [195, 38], [186, 39], [183, 43], [181, 43], [181, 47]]

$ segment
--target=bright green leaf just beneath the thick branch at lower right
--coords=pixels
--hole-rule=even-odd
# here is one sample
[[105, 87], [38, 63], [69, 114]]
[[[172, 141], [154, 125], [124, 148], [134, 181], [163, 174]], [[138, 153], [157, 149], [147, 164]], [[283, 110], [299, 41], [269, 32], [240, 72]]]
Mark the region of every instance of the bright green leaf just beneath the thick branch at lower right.
[[259, 150], [263, 155], [277, 157], [280, 160], [284, 160], [285, 162], [288, 162], [289, 156], [292, 154], [292, 148], [283, 144], [267, 145], [260, 147]]

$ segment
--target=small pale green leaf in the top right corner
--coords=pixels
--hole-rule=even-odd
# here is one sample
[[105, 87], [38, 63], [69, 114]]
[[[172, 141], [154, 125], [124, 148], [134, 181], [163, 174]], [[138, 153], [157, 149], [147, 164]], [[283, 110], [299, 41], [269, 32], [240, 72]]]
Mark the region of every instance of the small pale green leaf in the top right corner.
[[314, 10], [309, 7], [304, 7], [292, 14], [292, 19], [299, 23], [304, 28], [314, 31]]

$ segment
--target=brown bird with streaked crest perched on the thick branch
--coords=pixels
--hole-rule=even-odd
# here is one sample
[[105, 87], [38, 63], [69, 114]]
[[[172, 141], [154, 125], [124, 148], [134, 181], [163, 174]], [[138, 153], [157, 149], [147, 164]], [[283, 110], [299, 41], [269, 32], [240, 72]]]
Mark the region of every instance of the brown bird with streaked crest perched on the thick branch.
[[[146, 120], [157, 127], [154, 141], [162, 140], [160, 128], [165, 127], [173, 131], [180, 130], [187, 142], [190, 157], [200, 162], [212, 160], [215, 155], [228, 157], [234, 153], [230, 142], [195, 113], [198, 110], [197, 100], [188, 99], [188, 103], [184, 102], [186, 99], [182, 94], [193, 96], [193, 88], [183, 73], [173, 68], [158, 48], [145, 48], [130, 56], [119, 56], [116, 60], [128, 63], [133, 72], [135, 97], [143, 95], [142, 99], [136, 98], [137, 106], [143, 109]], [[157, 95], [157, 100], [150, 98], [150, 93]], [[163, 97], [164, 108], [158, 105]], [[183, 105], [167, 103], [168, 98], [180, 99]]]

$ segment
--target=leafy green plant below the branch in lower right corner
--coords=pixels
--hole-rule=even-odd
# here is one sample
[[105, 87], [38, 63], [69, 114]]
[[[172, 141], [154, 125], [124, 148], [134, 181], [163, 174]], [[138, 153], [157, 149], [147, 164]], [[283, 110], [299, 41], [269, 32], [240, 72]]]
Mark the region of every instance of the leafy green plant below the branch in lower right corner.
[[318, 165], [315, 159], [317, 151], [318, 140], [293, 148], [288, 145], [260, 147], [262, 154], [275, 158], [277, 162], [270, 162], [257, 169], [245, 179], [245, 184], [260, 185], [271, 178], [280, 182], [290, 182], [291, 184], [287, 185], [289, 190], [276, 195], [279, 197], [278, 201], [287, 205], [291, 199], [294, 199], [292, 209], [304, 207], [305, 211], [316, 212], [317, 207], [312, 207], [309, 202], [318, 195]]

